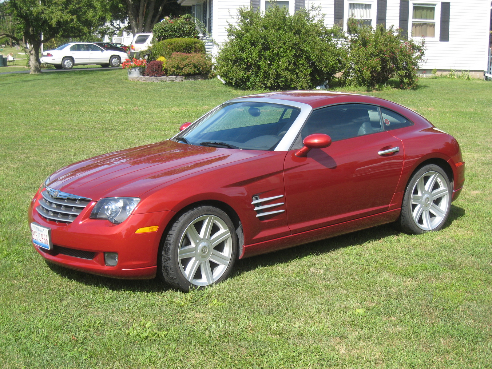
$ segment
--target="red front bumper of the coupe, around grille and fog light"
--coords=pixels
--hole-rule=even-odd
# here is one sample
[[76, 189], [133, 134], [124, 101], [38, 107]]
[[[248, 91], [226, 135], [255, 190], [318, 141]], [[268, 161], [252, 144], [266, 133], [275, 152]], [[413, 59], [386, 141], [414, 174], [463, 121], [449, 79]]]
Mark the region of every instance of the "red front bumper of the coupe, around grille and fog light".
[[[121, 224], [105, 219], [90, 219], [95, 201], [90, 203], [72, 223], [47, 220], [36, 211], [39, 192], [29, 208], [29, 222], [51, 228], [53, 250], [33, 244], [46, 260], [66, 268], [100, 276], [124, 279], [154, 278], [157, 271], [157, 252], [167, 223], [176, 214], [172, 211], [132, 214]], [[138, 228], [158, 225], [156, 232], [138, 233]], [[92, 259], [69, 256], [58, 252], [63, 248], [89, 251]], [[118, 252], [118, 265], [104, 264], [104, 252]]]

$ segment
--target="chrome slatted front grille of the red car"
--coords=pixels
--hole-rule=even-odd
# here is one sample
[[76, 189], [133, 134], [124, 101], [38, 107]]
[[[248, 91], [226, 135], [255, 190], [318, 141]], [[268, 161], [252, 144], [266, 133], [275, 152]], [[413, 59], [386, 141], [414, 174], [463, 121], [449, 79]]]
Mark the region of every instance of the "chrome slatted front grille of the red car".
[[46, 186], [36, 208], [39, 215], [56, 222], [71, 223], [92, 199]]

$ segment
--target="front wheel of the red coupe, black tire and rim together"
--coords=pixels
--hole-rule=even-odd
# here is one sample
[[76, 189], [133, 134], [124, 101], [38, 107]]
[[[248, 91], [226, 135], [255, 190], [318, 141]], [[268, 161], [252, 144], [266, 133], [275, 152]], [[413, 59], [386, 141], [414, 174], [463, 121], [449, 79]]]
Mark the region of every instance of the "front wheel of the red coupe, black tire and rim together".
[[199, 206], [180, 215], [163, 235], [157, 274], [182, 291], [203, 289], [230, 275], [237, 252], [238, 237], [229, 216], [215, 207]]

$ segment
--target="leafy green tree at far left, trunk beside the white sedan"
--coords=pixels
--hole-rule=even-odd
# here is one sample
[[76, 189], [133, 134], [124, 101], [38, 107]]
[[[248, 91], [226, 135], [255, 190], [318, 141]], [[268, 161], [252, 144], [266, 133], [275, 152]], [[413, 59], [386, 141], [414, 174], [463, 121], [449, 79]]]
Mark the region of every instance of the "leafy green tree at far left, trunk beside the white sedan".
[[41, 43], [56, 36], [90, 35], [108, 20], [109, 14], [103, 0], [7, 0], [5, 5], [27, 42], [3, 29], [0, 38], [10, 37], [26, 50], [31, 73], [41, 73]]

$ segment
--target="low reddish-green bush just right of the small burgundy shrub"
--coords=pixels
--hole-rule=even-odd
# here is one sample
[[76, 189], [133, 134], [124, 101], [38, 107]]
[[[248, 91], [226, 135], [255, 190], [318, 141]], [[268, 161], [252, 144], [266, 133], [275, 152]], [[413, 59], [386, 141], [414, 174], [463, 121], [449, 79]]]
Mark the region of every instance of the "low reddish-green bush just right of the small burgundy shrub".
[[173, 53], [166, 63], [167, 75], [209, 74], [212, 62], [203, 54]]

